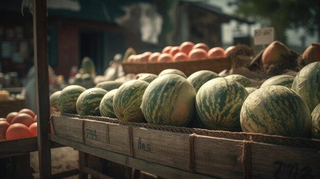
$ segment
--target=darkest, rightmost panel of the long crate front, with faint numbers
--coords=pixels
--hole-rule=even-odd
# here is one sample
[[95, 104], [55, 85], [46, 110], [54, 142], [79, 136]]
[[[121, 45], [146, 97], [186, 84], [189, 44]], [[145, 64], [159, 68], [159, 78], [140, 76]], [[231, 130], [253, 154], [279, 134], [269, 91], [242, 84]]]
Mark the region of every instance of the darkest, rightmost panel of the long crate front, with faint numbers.
[[253, 178], [320, 178], [320, 151], [252, 143]]

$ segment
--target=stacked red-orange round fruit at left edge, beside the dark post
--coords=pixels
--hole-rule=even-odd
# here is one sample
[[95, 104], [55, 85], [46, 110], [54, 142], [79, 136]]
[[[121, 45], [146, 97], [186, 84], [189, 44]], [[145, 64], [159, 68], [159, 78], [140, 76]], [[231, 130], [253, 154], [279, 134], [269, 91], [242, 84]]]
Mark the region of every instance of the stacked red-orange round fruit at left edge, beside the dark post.
[[15, 140], [37, 135], [37, 115], [30, 109], [11, 112], [6, 118], [0, 118], [0, 140]]

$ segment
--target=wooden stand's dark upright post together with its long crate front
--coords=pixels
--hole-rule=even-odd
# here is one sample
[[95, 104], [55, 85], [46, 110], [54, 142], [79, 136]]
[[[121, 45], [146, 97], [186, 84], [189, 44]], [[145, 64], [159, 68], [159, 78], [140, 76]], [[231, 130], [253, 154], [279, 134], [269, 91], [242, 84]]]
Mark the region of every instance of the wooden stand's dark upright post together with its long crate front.
[[51, 141], [165, 178], [320, 178], [319, 140], [92, 116], [50, 118], [46, 7], [46, 1], [33, 0], [41, 178], [53, 177]]

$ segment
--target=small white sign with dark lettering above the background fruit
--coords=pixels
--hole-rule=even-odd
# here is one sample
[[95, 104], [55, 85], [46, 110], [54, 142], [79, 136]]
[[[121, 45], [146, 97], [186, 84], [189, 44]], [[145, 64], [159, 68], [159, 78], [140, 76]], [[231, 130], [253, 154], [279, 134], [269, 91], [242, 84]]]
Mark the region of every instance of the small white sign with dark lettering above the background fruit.
[[254, 42], [255, 45], [269, 44], [275, 41], [275, 29], [264, 28], [255, 30]]

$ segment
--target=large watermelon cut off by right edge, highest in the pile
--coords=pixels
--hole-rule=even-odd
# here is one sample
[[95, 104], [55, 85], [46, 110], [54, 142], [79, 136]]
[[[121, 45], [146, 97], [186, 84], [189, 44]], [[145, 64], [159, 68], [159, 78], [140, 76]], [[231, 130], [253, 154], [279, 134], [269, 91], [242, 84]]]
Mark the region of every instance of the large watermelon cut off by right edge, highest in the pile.
[[311, 113], [320, 103], [320, 62], [303, 67], [296, 74], [291, 89], [304, 99]]

